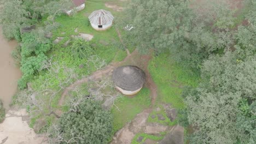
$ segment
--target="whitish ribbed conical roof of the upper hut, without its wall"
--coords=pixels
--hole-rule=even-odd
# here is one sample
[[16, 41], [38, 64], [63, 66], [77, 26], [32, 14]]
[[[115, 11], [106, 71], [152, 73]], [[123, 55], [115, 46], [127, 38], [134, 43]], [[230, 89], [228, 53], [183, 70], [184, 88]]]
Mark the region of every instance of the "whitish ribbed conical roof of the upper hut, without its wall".
[[112, 23], [114, 16], [107, 10], [96, 10], [92, 12], [89, 16], [89, 20], [94, 25], [107, 25]]

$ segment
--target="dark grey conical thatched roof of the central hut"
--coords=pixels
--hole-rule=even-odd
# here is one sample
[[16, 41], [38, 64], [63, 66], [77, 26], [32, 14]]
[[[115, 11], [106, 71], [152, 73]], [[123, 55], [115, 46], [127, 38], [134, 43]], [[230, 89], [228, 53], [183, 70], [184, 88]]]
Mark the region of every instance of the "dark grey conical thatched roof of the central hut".
[[146, 74], [136, 66], [126, 65], [115, 69], [112, 79], [115, 86], [125, 91], [136, 91], [146, 81]]

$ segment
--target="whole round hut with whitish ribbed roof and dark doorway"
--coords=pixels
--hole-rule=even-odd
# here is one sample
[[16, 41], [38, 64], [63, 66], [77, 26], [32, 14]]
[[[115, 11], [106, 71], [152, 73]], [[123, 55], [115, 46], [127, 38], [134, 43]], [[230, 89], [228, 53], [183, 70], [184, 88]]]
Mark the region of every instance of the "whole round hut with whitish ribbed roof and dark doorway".
[[112, 26], [114, 16], [107, 10], [96, 10], [89, 16], [91, 26], [97, 31], [104, 31]]

